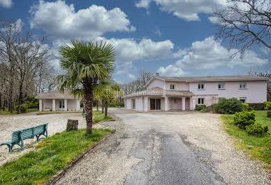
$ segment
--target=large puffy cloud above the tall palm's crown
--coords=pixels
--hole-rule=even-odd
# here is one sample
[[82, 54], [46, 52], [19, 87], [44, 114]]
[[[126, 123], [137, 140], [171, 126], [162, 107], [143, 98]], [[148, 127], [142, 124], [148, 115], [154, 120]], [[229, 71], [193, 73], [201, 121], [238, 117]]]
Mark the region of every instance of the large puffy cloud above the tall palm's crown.
[[92, 5], [75, 12], [73, 4], [59, 0], [39, 1], [29, 11], [31, 28], [43, 29], [55, 38], [93, 39], [110, 31], [136, 31], [120, 8]]

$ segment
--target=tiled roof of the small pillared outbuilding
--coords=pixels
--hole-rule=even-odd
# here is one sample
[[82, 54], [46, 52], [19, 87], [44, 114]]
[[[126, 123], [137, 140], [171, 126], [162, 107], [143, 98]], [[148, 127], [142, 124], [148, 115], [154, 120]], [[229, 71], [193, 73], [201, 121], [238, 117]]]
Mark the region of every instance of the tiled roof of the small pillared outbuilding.
[[78, 96], [71, 95], [67, 90], [64, 90], [64, 93], [59, 92], [58, 90], [52, 90], [44, 93], [39, 93], [35, 97], [36, 99], [78, 99]]

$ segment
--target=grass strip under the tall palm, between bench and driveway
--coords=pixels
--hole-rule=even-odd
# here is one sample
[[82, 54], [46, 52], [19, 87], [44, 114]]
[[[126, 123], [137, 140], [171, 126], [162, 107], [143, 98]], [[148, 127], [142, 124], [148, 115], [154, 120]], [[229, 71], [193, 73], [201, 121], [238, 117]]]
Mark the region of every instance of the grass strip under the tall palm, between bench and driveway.
[[38, 148], [0, 167], [0, 184], [44, 184], [66, 163], [88, 147], [110, 134], [110, 129], [93, 129], [86, 136], [86, 129], [63, 131], [45, 138]]

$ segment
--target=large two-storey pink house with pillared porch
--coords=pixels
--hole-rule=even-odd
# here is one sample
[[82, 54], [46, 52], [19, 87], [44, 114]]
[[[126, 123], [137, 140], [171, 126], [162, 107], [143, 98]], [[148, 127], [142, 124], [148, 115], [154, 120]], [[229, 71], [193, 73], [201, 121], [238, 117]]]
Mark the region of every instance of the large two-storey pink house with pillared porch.
[[219, 98], [235, 97], [246, 103], [267, 100], [268, 78], [248, 75], [217, 77], [153, 77], [142, 90], [124, 96], [127, 110], [193, 110], [196, 104], [210, 106]]

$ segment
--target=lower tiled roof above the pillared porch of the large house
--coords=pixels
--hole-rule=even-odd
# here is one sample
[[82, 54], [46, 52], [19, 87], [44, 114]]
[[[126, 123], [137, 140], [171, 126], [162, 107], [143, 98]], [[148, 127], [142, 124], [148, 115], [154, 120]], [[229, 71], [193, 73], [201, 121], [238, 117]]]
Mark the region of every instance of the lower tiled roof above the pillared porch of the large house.
[[189, 90], [164, 90], [156, 87], [132, 93], [130, 95], [125, 95], [124, 97], [135, 97], [141, 95], [193, 95], [193, 93]]

